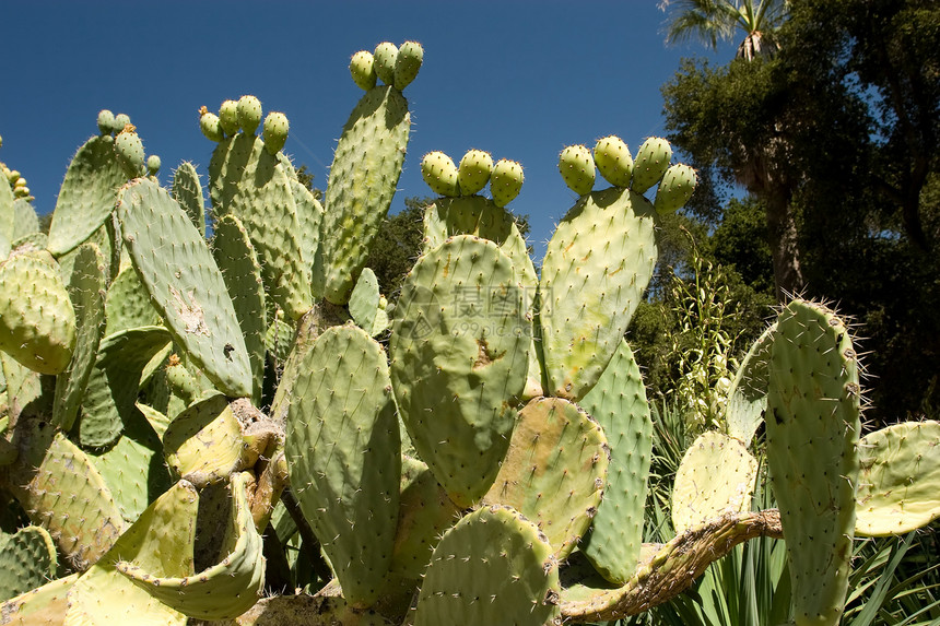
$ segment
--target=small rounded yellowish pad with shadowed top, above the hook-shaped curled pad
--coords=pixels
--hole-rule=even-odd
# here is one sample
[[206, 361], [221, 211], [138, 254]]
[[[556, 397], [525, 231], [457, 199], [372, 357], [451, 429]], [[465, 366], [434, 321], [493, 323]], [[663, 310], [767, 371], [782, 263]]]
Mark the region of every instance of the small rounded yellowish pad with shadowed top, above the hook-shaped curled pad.
[[258, 451], [246, 445], [245, 421], [221, 394], [189, 405], [163, 434], [167, 465], [200, 488], [252, 466]]

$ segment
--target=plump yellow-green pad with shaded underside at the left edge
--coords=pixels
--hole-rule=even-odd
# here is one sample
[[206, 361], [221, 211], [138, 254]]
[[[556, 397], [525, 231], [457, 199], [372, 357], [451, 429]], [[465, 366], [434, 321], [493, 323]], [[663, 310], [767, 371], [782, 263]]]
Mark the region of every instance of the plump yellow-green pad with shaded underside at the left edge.
[[39, 374], [61, 374], [75, 336], [75, 310], [49, 253], [0, 261], [0, 350]]

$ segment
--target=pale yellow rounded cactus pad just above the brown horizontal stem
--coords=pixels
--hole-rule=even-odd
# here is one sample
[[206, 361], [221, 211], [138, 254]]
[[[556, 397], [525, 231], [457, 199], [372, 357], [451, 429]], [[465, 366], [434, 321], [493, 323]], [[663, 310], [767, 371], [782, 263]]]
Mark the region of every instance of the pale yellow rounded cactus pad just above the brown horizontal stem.
[[672, 487], [675, 533], [750, 509], [756, 477], [757, 461], [743, 444], [718, 432], [696, 437], [679, 463]]

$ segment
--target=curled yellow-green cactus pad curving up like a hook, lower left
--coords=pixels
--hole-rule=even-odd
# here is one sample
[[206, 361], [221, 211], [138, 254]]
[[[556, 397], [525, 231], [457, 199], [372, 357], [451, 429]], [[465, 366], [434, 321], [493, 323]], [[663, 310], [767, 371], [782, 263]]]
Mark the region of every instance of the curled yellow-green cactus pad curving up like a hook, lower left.
[[162, 576], [128, 560], [119, 560], [117, 570], [153, 598], [190, 617], [233, 619], [245, 613], [258, 602], [265, 587], [265, 557], [248, 505], [248, 476], [232, 476], [232, 525], [221, 563], [183, 576]]

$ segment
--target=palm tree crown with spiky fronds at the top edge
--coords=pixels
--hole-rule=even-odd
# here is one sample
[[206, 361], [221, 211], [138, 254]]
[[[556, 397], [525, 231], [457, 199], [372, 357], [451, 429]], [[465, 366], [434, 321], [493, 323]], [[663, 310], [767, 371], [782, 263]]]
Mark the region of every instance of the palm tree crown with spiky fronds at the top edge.
[[714, 49], [742, 31], [747, 35], [738, 57], [750, 61], [777, 52], [774, 33], [786, 20], [788, 4], [788, 0], [661, 0], [659, 9], [671, 14], [667, 44], [700, 39]]

